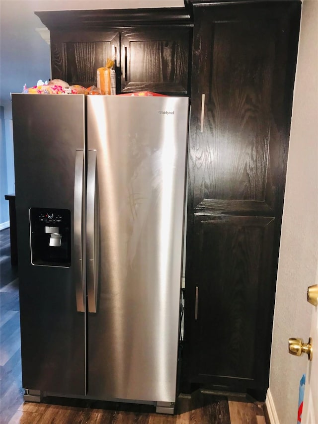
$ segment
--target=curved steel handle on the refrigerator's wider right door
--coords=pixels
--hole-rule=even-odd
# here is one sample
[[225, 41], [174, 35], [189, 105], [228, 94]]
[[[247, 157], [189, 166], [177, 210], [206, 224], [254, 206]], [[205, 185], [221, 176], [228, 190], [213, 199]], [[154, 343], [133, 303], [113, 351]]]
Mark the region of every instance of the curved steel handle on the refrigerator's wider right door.
[[88, 151], [86, 194], [86, 277], [88, 312], [97, 312], [99, 211], [96, 151]]

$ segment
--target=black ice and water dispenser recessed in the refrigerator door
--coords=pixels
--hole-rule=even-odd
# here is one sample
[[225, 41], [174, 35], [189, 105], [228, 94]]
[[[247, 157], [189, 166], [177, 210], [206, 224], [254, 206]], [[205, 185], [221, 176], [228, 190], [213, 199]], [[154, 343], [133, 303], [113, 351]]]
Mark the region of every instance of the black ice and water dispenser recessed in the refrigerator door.
[[71, 212], [30, 209], [31, 261], [34, 265], [71, 265]]

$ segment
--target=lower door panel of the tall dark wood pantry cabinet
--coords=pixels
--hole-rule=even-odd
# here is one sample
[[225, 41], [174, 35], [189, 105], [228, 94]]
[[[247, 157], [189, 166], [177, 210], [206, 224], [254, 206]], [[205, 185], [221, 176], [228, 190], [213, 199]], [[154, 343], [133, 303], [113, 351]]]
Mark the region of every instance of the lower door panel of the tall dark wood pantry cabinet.
[[196, 215], [195, 376], [251, 384], [262, 373], [256, 365], [266, 350], [274, 222], [273, 217]]

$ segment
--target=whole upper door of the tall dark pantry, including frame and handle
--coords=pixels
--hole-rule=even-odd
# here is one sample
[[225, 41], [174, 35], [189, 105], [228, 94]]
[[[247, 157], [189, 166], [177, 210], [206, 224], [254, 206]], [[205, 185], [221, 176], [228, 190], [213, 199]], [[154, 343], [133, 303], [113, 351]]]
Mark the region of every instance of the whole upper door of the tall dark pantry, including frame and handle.
[[240, 212], [237, 201], [244, 201], [252, 213], [261, 206], [272, 214], [281, 207], [298, 6], [293, 1], [194, 5], [194, 208], [221, 203], [228, 208], [231, 202]]

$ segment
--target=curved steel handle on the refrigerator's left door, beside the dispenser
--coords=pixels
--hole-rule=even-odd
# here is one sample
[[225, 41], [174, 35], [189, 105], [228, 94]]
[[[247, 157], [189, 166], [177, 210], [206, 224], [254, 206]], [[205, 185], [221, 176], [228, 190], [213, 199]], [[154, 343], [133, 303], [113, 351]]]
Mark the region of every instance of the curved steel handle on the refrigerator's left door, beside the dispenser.
[[76, 307], [78, 312], [85, 311], [85, 253], [83, 249], [83, 223], [85, 222], [84, 210], [84, 151], [77, 150], [75, 157], [74, 178], [74, 257], [75, 257], [75, 290]]

